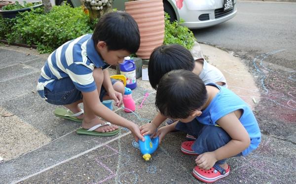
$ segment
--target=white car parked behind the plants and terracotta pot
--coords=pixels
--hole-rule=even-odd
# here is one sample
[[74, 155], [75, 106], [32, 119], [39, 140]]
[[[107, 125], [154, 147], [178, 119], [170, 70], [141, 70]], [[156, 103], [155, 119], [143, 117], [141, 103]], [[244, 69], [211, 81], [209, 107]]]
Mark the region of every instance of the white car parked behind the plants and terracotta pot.
[[[65, 0], [51, 0], [60, 5]], [[80, 6], [80, 0], [66, 0], [74, 7]], [[98, 0], [96, 0], [98, 1]], [[114, 0], [113, 8], [124, 10], [124, 2], [128, 0]], [[237, 0], [163, 0], [164, 11], [171, 21], [183, 19], [184, 26], [199, 29], [225, 22], [236, 14]]]

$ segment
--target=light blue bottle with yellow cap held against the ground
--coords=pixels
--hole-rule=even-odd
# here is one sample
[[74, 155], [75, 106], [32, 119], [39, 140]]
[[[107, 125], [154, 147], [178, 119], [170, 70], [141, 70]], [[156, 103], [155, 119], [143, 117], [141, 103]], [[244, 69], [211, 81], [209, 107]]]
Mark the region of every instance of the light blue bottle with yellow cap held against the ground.
[[144, 136], [145, 141], [139, 140], [140, 151], [143, 154], [143, 158], [148, 161], [151, 155], [158, 147], [158, 137], [150, 139], [150, 135]]

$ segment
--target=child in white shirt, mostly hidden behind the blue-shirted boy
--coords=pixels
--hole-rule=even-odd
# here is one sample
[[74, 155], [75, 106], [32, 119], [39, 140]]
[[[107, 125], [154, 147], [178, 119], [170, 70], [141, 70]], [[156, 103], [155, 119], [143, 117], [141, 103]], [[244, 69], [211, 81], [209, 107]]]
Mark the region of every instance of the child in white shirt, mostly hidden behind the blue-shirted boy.
[[[156, 47], [151, 53], [148, 63], [148, 75], [151, 87], [155, 90], [161, 77], [172, 70], [188, 70], [197, 74], [200, 79], [206, 83], [216, 83], [227, 87], [227, 82], [222, 72], [209, 64], [202, 56], [202, 53], [197, 53], [200, 49], [194, 49], [192, 53], [185, 47], [179, 44], [161, 45]], [[194, 56], [194, 57], [193, 57]], [[168, 117], [160, 113], [153, 118], [151, 122], [157, 127]], [[172, 124], [175, 120], [168, 119], [166, 125]], [[155, 126], [151, 123], [141, 126], [141, 133], [145, 131], [154, 131]], [[194, 141], [196, 138], [193, 135], [187, 134], [188, 141]]]

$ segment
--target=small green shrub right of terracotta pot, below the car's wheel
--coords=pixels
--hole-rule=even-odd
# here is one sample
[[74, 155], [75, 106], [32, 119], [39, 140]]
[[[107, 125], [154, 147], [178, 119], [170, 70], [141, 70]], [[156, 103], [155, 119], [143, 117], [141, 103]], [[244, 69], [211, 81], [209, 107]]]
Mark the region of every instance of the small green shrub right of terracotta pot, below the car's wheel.
[[165, 13], [165, 36], [163, 44], [177, 43], [188, 50], [193, 47], [196, 39], [187, 27], [180, 25], [183, 22], [184, 20], [181, 20], [180, 22], [170, 22], [170, 16]]

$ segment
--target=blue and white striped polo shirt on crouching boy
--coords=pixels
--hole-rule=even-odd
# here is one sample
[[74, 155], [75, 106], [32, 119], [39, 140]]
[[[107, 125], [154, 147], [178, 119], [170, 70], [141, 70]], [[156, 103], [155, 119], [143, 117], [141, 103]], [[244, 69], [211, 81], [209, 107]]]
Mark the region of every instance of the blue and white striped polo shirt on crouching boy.
[[70, 40], [51, 53], [41, 69], [37, 90], [46, 87], [52, 91], [56, 80], [70, 77], [79, 91], [94, 91], [97, 88], [94, 68], [105, 68], [108, 64], [98, 54], [91, 37], [88, 34]]

